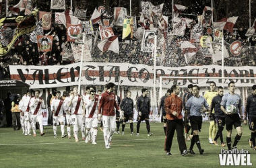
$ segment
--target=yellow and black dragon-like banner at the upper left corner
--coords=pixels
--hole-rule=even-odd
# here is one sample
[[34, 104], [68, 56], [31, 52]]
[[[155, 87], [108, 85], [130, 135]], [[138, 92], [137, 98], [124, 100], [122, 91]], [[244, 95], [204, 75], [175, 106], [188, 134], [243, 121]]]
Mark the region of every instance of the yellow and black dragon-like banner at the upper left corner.
[[9, 50], [11, 50], [11, 47], [13, 46], [13, 44], [16, 42], [16, 40], [20, 36], [24, 34], [30, 34], [31, 32], [33, 32], [34, 28], [36, 28], [37, 15], [38, 15], [38, 10], [34, 9], [30, 13], [30, 15], [25, 15], [25, 16], [20, 15], [18, 17], [3, 17], [0, 20], [0, 29], [2, 28], [2, 26], [5, 25], [4, 24], [5, 21], [9, 19], [15, 19], [15, 22], [18, 23], [15, 33], [13, 33], [13, 38], [11, 42], [9, 42], [7, 46], [0, 46], [0, 56], [7, 54]]

